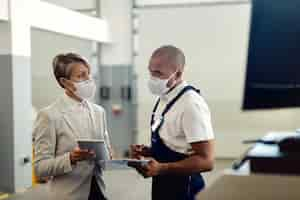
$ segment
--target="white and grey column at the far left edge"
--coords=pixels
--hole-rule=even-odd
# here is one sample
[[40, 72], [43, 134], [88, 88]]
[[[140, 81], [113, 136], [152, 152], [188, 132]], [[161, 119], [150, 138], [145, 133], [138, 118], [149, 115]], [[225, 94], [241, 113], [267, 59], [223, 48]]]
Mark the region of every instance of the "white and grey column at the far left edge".
[[4, 192], [23, 190], [32, 182], [30, 3], [10, 0], [10, 21], [0, 23], [0, 191]]

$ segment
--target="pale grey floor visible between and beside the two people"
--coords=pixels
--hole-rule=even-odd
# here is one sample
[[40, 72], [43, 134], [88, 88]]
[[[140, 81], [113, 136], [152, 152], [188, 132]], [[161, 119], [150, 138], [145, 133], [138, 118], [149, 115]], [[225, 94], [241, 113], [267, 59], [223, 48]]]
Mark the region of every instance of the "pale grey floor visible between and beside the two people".
[[[232, 160], [217, 160], [212, 172], [204, 173], [207, 185], [216, 180], [218, 174], [230, 167]], [[104, 173], [107, 185], [107, 194], [110, 200], [150, 200], [151, 179], [144, 179], [134, 170], [108, 170]], [[45, 186], [39, 186], [31, 192], [18, 194], [11, 200], [35, 200], [43, 199]]]

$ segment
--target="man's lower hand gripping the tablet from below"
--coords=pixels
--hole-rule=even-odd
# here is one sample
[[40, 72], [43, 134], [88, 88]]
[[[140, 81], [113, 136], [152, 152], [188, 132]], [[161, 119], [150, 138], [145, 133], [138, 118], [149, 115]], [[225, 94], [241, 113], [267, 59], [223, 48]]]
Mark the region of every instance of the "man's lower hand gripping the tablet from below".
[[128, 166], [133, 167], [144, 178], [157, 176], [163, 174], [167, 170], [167, 164], [159, 163], [154, 159], [150, 159], [149, 163], [145, 166], [139, 163], [128, 163]]

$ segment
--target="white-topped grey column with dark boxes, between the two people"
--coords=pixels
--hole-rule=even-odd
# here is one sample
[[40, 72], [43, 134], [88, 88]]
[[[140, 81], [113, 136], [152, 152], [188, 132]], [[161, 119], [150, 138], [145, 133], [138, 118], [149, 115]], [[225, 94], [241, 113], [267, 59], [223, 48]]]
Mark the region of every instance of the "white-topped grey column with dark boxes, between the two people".
[[[100, 45], [100, 85], [110, 88], [109, 100], [100, 101], [107, 111], [112, 145], [117, 153], [124, 153], [135, 143], [136, 90], [132, 47], [133, 0], [100, 0], [100, 16], [110, 25], [111, 43]], [[130, 88], [131, 99], [121, 98], [122, 88]], [[115, 111], [121, 110], [120, 115]], [[126, 131], [124, 131], [126, 130]]]

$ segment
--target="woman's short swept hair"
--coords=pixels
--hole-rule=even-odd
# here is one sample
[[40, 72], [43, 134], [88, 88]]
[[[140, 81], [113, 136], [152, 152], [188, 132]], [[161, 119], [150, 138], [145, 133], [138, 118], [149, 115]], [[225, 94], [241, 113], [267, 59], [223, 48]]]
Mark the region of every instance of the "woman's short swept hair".
[[82, 63], [90, 71], [90, 65], [84, 57], [76, 53], [58, 54], [53, 58], [52, 66], [55, 79], [62, 88], [64, 88], [64, 86], [61, 84], [60, 79], [70, 78], [72, 72], [70, 64], [72, 63]]

